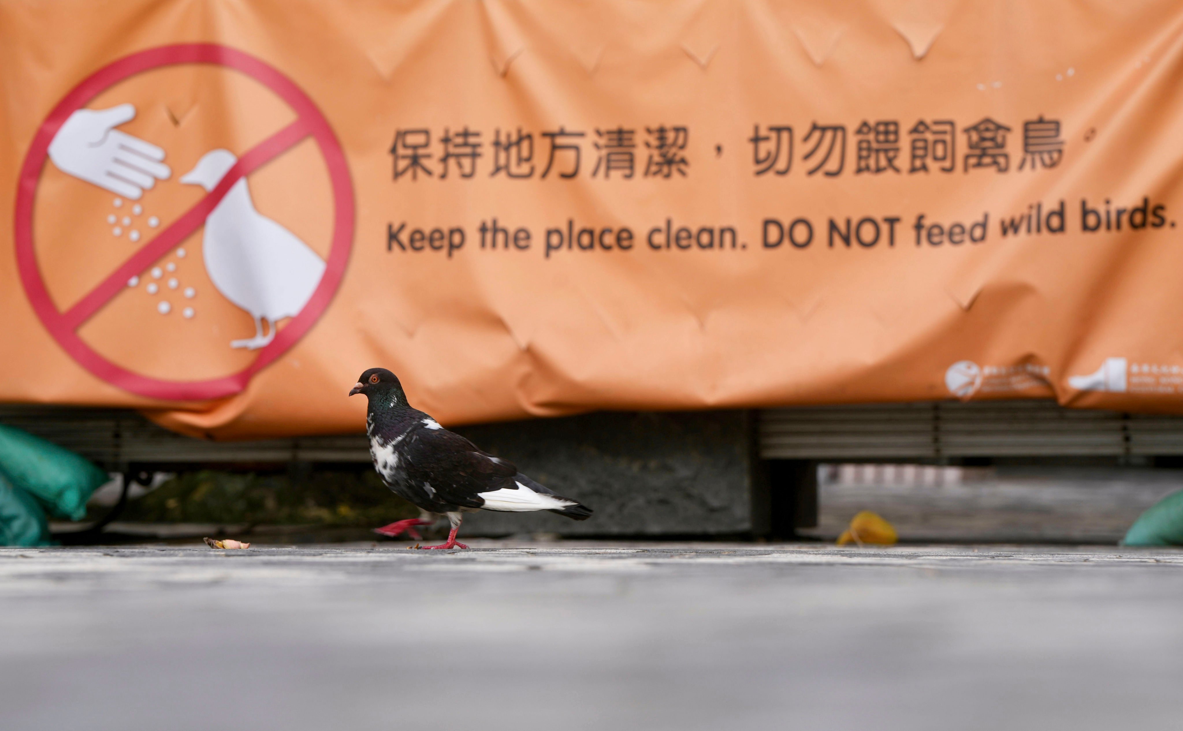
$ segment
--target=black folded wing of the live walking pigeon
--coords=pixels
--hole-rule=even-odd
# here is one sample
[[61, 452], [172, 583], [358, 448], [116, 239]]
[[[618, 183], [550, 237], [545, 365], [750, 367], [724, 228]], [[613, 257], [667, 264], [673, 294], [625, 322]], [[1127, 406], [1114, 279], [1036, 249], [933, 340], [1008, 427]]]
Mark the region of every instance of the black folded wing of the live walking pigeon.
[[463, 507], [480, 507], [481, 492], [513, 487], [517, 467], [485, 454], [471, 441], [440, 428], [418, 429], [408, 459], [416, 474], [431, 483], [438, 499]]

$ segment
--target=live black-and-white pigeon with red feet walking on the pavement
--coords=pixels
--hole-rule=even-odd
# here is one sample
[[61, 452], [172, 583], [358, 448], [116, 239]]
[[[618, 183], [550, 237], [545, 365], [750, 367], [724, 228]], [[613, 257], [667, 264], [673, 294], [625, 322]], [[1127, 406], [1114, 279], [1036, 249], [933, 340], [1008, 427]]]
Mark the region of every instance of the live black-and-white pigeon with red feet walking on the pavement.
[[[366, 434], [374, 468], [382, 481], [425, 513], [446, 515], [452, 525], [446, 543], [422, 548], [468, 548], [455, 541], [464, 512], [549, 510], [575, 520], [592, 517], [590, 507], [555, 494], [512, 464], [481, 452], [464, 436], [412, 408], [402, 384], [389, 370], [370, 368], [349, 392], [350, 396], [354, 394], [366, 394], [369, 399]], [[420, 516], [383, 525], [375, 532], [393, 538], [433, 522]]]

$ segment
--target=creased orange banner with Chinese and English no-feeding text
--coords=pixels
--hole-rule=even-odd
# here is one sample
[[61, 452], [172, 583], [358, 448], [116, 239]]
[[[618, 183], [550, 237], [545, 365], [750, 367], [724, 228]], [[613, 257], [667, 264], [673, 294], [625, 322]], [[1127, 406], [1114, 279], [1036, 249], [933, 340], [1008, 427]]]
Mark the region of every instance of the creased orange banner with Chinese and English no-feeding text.
[[1181, 72], [1165, 1], [0, 0], [0, 400], [1183, 413]]

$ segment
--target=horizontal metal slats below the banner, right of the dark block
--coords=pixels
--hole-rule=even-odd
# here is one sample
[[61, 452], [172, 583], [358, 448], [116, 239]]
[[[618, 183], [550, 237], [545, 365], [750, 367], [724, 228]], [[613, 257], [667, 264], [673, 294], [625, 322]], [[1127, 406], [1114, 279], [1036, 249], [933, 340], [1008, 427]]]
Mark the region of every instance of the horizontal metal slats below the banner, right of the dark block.
[[1054, 401], [938, 401], [761, 412], [764, 459], [1183, 454], [1183, 418]]

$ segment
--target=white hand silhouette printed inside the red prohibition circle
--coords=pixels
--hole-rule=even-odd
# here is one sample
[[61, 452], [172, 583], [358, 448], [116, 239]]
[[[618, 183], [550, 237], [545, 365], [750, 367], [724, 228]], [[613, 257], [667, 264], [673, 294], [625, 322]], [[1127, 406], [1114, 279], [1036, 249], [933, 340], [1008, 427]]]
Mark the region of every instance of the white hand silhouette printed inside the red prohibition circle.
[[164, 150], [114, 129], [135, 116], [131, 104], [79, 109], [53, 136], [50, 159], [63, 173], [138, 200], [157, 177], [168, 180], [173, 172], [161, 162]]

